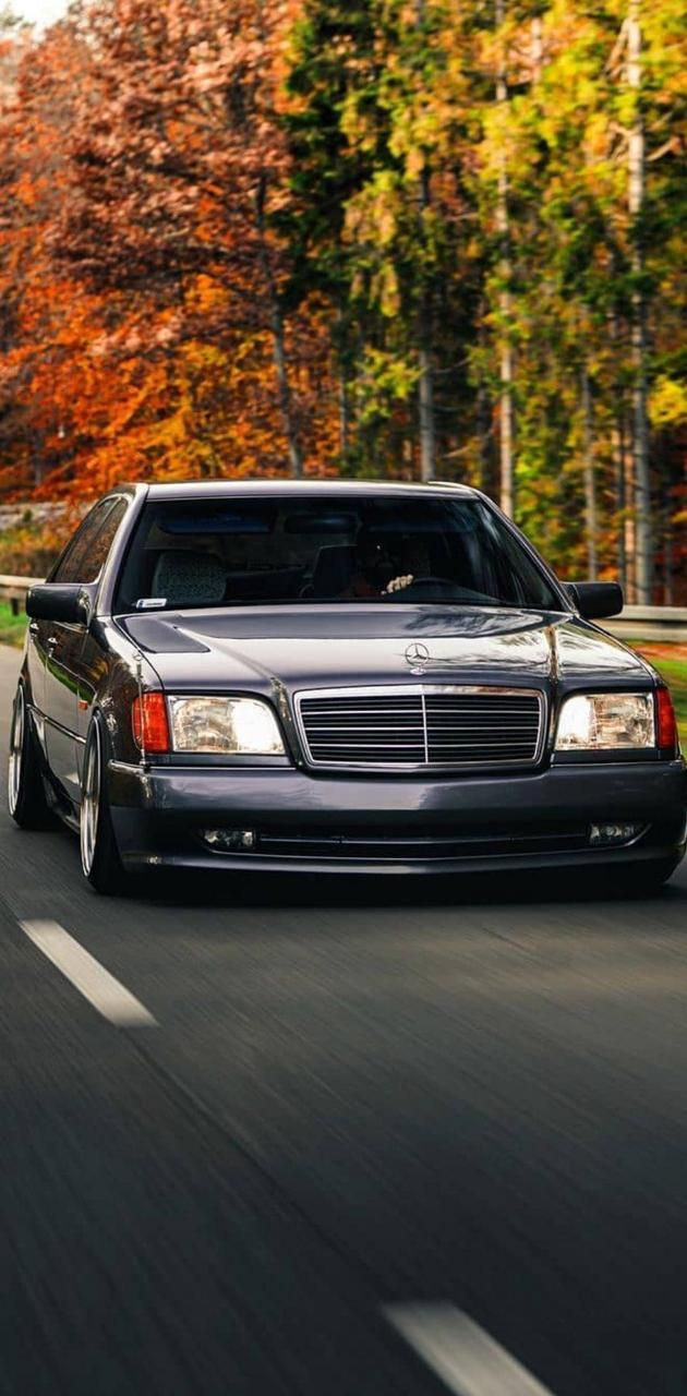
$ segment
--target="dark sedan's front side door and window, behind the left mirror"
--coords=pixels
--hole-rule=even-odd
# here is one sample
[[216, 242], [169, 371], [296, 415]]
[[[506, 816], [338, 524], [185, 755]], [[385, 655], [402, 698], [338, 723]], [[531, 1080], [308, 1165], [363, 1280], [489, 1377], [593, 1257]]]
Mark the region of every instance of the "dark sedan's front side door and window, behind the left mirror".
[[[52, 582], [96, 582], [126, 512], [121, 497], [102, 500], [84, 519], [57, 564]], [[87, 628], [66, 621], [40, 621], [46, 634], [36, 637], [45, 653], [45, 744], [47, 764], [64, 794], [78, 804], [81, 790], [80, 702], [82, 652]]]

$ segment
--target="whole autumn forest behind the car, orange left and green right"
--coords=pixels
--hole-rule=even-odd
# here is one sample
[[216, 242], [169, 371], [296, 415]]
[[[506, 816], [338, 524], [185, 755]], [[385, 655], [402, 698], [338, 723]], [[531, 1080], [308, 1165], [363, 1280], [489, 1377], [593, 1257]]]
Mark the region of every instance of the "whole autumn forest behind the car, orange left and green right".
[[0, 571], [119, 480], [437, 477], [687, 603], [683, 0], [0, 25]]

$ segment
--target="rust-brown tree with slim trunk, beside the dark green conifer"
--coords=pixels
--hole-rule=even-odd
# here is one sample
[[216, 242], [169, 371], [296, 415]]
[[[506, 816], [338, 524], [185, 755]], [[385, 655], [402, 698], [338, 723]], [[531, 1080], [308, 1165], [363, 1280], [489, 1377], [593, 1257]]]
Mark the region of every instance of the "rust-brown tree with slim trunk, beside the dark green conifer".
[[98, 20], [98, 107], [73, 140], [73, 200], [61, 247], [102, 290], [154, 297], [177, 342], [198, 331], [189, 288], [205, 300], [212, 341], [271, 339], [290, 473], [303, 473], [289, 374], [288, 248], [275, 228], [288, 151], [275, 109], [278, 6], [117, 0]]

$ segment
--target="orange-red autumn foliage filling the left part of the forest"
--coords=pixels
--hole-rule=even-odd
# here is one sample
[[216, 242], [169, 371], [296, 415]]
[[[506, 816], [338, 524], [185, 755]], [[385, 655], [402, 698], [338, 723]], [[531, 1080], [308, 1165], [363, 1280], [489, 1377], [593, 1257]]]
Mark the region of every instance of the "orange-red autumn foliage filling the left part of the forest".
[[320, 465], [327, 336], [286, 320], [271, 222], [281, 24], [269, 0], [109, 0], [28, 54], [0, 187], [6, 484], [283, 473], [306, 420]]

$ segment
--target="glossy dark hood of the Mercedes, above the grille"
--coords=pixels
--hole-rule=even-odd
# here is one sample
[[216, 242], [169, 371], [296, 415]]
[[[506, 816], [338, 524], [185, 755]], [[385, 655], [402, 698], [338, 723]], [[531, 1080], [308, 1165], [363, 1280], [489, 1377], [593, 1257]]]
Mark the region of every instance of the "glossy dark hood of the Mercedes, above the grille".
[[309, 604], [130, 616], [165, 687], [651, 681], [620, 641], [559, 611]]

